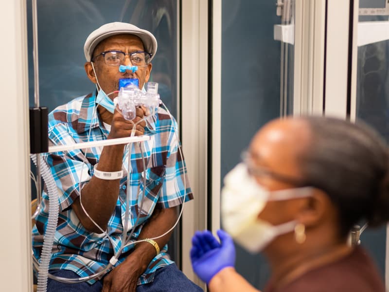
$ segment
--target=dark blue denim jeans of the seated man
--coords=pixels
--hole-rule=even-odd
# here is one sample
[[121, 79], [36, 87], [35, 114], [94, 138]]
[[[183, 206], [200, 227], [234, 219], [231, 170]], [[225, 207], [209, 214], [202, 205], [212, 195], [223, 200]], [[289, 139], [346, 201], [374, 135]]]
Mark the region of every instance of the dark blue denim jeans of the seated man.
[[[55, 270], [51, 271], [59, 277], [75, 278], [78, 277], [72, 271]], [[101, 292], [103, 288], [103, 279], [96, 281], [92, 285], [87, 282], [78, 284], [66, 284], [48, 279], [47, 292]], [[203, 290], [189, 280], [176, 264], [171, 264], [157, 270], [154, 276], [154, 281], [149, 284], [140, 285], [137, 287], [137, 292], [202, 292]]]

